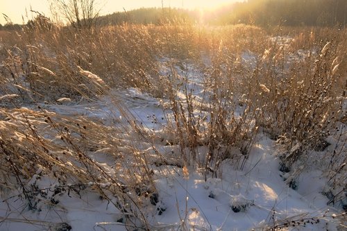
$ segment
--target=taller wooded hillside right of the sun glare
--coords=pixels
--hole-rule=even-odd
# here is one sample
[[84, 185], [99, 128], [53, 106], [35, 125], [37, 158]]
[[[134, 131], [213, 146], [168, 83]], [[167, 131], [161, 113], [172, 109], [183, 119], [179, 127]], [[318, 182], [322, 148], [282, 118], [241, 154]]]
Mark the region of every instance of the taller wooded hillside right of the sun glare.
[[346, 26], [346, 0], [248, 0], [219, 23], [258, 26]]

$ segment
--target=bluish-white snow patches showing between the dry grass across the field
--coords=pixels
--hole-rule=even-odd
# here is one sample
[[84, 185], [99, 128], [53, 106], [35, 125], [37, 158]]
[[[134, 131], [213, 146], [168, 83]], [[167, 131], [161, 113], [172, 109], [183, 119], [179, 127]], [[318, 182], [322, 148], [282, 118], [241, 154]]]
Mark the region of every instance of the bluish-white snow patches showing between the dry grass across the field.
[[[287, 40], [290, 38], [276, 38], [280, 44]], [[165, 62], [163, 61], [163, 64]], [[254, 67], [255, 58], [246, 51], [242, 62], [248, 62], [250, 67]], [[175, 68], [179, 70], [179, 67]], [[204, 101], [202, 74], [189, 63], [185, 69], [187, 91], [194, 92], [196, 103]], [[87, 72], [84, 74], [89, 77], [94, 75]], [[262, 88], [264, 91], [268, 90], [266, 86]], [[185, 99], [183, 89], [179, 89], [178, 95], [180, 99]], [[265, 133], [257, 134], [256, 142], [242, 170], [235, 167], [235, 160], [224, 160], [216, 173], [217, 177], [208, 175], [205, 180], [203, 171], [199, 169], [188, 169], [189, 173], [183, 173], [177, 162], [174, 166], [180, 148], [175, 145], [165, 146], [174, 140], [173, 134], [164, 133], [167, 118], [171, 114], [169, 109], [164, 109], [165, 99], [158, 100], [150, 94], [130, 88], [112, 90], [99, 101], [78, 104], [72, 104], [65, 98], [58, 101], [69, 103], [40, 106], [57, 114], [71, 117], [83, 115], [100, 119], [108, 125], [124, 126], [129, 122], [129, 117], [119, 110], [121, 105], [131, 114], [130, 119], [134, 119], [158, 137], [163, 137], [162, 143], [155, 142], [156, 148], [167, 156], [167, 160], [169, 156], [172, 157], [172, 162], [167, 163], [172, 165], [151, 166], [159, 195], [158, 203], [146, 208], [149, 210], [147, 219], [153, 230], [266, 230], [274, 223], [285, 225], [296, 220], [307, 222], [286, 230], [337, 230], [339, 223], [336, 219], [339, 211], [327, 205], [329, 199], [322, 194], [328, 182], [323, 169], [302, 169], [296, 179], [298, 188], [292, 189], [285, 180], [290, 176], [279, 170], [279, 144], [269, 139]], [[329, 142], [332, 146], [336, 144], [334, 139]], [[151, 146], [143, 148], [146, 153], [154, 153]], [[205, 151], [204, 148], [201, 147], [200, 151]], [[108, 173], [116, 174], [113, 167], [115, 158], [110, 157], [108, 151], [110, 148], [97, 149], [90, 153], [90, 158], [103, 166]], [[56, 180], [41, 175], [42, 169], [37, 169], [28, 185], [42, 189], [42, 199], [53, 198], [51, 203], [58, 201], [57, 205], [46, 204], [44, 200], [36, 201], [37, 209], [34, 212], [28, 210], [22, 196], [1, 195], [0, 230], [126, 230], [121, 221], [123, 213], [112, 201], [105, 200], [92, 191], [94, 182], [89, 182], [83, 189], [74, 185], [61, 187]], [[110, 186], [110, 182], [99, 183], [101, 188]], [[69, 191], [69, 194], [56, 191], [58, 188]], [[20, 194], [20, 189], [17, 193]], [[115, 195], [110, 196], [117, 198]], [[312, 220], [318, 217], [321, 222]]]

